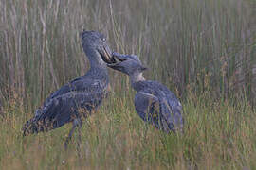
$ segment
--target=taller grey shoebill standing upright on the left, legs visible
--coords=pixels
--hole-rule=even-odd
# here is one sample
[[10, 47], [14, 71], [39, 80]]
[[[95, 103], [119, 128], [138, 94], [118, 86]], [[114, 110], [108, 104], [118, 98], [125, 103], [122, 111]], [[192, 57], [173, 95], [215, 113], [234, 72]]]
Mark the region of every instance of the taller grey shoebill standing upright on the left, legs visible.
[[[24, 135], [48, 131], [73, 122], [65, 142], [71, 138], [75, 127], [82, 126], [82, 116], [87, 117], [101, 105], [108, 93], [109, 79], [106, 63], [110, 63], [111, 50], [105, 37], [96, 31], [81, 33], [82, 47], [90, 61], [90, 70], [51, 93], [43, 106], [25, 124]], [[104, 60], [104, 61], [103, 61]]]

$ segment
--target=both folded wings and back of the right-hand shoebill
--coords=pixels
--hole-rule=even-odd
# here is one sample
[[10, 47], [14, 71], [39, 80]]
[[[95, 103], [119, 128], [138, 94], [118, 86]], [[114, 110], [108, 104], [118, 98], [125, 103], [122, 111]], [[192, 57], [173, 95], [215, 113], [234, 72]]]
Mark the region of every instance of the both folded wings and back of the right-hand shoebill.
[[168, 91], [143, 90], [135, 96], [135, 107], [139, 116], [147, 122], [151, 122], [155, 127], [160, 127], [164, 131], [175, 131], [182, 129], [182, 106], [174, 93]]

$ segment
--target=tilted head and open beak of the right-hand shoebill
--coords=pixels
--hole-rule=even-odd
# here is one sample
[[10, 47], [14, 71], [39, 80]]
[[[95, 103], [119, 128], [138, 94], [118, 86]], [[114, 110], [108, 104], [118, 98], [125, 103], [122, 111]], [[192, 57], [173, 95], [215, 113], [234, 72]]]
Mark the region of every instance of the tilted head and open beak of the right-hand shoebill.
[[108, 67], [125, 73], [129, 76], [135, 73], [142, 73], [147, 68], [144, 67], [136, 55], [121, 55], [114, 52], [112, 54], [113, 63], [107, 64]]

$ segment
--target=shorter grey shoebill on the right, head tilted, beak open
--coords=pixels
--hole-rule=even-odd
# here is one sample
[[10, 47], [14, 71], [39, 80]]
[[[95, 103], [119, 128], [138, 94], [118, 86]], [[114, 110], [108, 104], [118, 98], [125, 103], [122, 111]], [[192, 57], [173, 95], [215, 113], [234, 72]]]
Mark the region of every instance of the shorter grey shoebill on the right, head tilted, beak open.
[[137, 91], [134, 102], [140, 118], [165, 132], [182, 131], [182, 106], [174, 93], [157, 81], [145, 80], [142, 72], [146, 68], [137, 56], [113, 53], [113, 58], [108, 67], [129, 75]]

